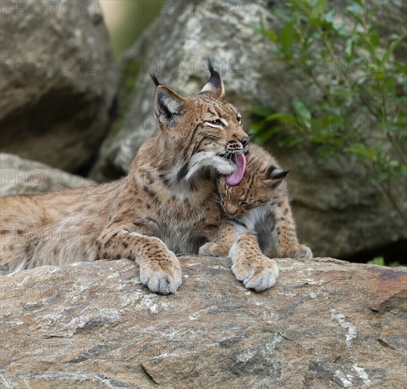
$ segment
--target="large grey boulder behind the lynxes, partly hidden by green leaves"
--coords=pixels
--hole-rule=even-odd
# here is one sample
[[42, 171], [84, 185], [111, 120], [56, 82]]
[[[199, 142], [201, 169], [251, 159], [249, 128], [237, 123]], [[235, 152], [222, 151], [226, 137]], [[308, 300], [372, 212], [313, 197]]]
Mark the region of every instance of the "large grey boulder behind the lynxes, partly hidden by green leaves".
[[[154, 84], [149, 72], [179, 93], [191, 95], [207, 79], [202, 59], [214, 57], [215, 66], [222, 71], [227, 100], [243, 112], [246, 129], [253, 119], [248, 109], [255, 105], [287, 112], [294, 98], [310, 105], [319, 99], [320, 91], [309, 88], [304, 74], [285, 71], [285, 64], [270, 50], [270, 40], [248, 27], [265, 23], [280, 28], [281, 22], [271, 13], [276, 4], [282, 6], [279, 1], [200, 0], [184, 5], [168, 1], [161, 16], [122, 58], [120, 117], [102, 146], [92, 177], [110, 180], [124, 175], [139, 146], [154, 134]], [[379, 31], [383, 35], [403, 33], [406, 4], [389, 1], [380, 6]], [[336, 9], [336, 18], [344, 17], [337, 1], [331, 2], [331, 8]], [[396, 55], [405, 60], [402, 50]], [[321, 83], [331, 82], [323, 76]], [[292, 171], [290, 186], [299, 236], [316, 255], [348, 257], [406, 236], [403, 182], [391, 183], [389, 199], [377, 185], [377, 177], [365, 178], [363, 169], [348, 160], [338, 158], [321, 165], [309, 144], [284, 151], [275, 143], [268, 146], [282, 166]]]

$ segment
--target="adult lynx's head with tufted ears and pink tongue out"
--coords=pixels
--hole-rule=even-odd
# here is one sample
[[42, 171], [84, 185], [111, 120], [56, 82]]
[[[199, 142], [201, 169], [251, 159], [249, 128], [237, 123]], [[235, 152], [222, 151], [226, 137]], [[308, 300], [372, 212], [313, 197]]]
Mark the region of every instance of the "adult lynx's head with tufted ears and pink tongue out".
[[154, 78], [154, 108], [165, 141], [178, 154], [178, 182], [213, 171], [215, 175], [227, 175], [227, 182], [237, 185], [246, 167], [243, 151], [249, 138], [243, 131], [239, 111], [223, 100], [224, 85], [219, 73], [212, 64], [209, 69], [210, 79], [200, 94], [188, 98]]

